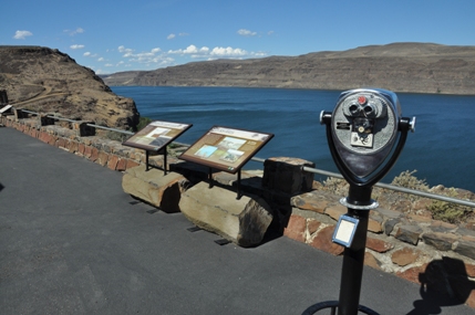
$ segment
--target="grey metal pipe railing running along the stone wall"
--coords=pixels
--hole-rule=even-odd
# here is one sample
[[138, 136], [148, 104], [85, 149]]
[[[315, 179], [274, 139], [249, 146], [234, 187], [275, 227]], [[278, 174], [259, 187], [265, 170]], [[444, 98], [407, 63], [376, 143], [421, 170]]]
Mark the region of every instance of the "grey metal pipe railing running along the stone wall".
[[[21, 111], [29, 113], [29, 114], [39, 115], [39, 113], [35, 113], [35, 112], [31, 112], [31, 111], [27, 111], [27, 109], [21, 109]], [[48, 117], [51, 117], [54, 119], [60, 119], [60, 120], [72, 122], [72, 123], [78, 122], [78, 120], [72, 120], [72, 119], [68, 119], [68, 118], [63, 118], [63, 117], [56, 117], [56, 116], [48, 116]], [[100, 128], [100, 129], [105, 129], [105, 130], [111, 130], [111, 132], [116, 132], [116, 133], [122, 133], [122, 134], [126, 134], [126, 135], [132, 135], [132, 136], [135, 135], [135, 133], [133, 133], [133, 132], [123, 130], [123, 129], [115, 129], [115, 128], [99, 126], [99, 125], [94, 125], [94, 124], [87, 124], [87, 126], [94, 127], [94, 128]], [[184, 147], [189, 147], [189, 145], [187, 145], [187, 144], [180, 144], [180, 143], [175, 143], [175, 144], [178, 144], [178, 145], [184, 146]], [[266, 161], [266, 159], [259, 158], [259, 157], [252, 157], [251, 160], [262, 162], [262, 164]], [[332, 171], [311, 168], [311, 167], [303, 167], [303, 170], [309, 171], [309, 172], [313, 172], [313, 174], [328, 176], [328, 177], [344, 179], [343, 176], [341, 176], [341, 174], [339, 174], [339, 172], [332, 172]], [[384, 183], [384, 182], [378, 182], [374, 186], [380, 187], [380, 188], [384, 188], [384, 189], [390, 189], [390, 190], [403, 192], [403, 193], [409, 193], [409, 195], [414, 195], [414, 196], [419, 196], [419, 197], [425, 197], [425, 198], [430, 198], [430, 199], [435, 199], [435, 200], [456, 203], [459, 206], [466, 206], [466, 207], [475, 208], [475, 202], [468, 201], [468, 200], [463, 200], [463, 199], [457, 199], [457, 198], [453, 198], [453, 197], [420, 191], [420, 190], [399, 187], [399, 186], [389, 185], [389, 183]]]

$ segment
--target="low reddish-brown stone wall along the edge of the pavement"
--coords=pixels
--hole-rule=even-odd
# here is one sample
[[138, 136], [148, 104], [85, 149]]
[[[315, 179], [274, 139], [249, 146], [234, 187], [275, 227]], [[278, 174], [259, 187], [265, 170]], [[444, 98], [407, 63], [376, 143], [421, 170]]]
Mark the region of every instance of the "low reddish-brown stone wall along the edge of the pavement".
[[[51, 122], [49, 122], [51, 123]], [[16, 128], [58, 148], [82, 156], [112, 170], [124, 171], [145, 162], [145, 153], [118, 141], [92, 136], [84, 122], [71, 128], [47, 125], [41, 118], [0, 117], [0, 125]], [[58, 124], [58, 123], [56, 123]], [[68, 125], [68, 124], [66, 124]], [[83, 136], [90, 134], [87, 136]], [[149, 164], [163, 167], [162, 156]], [[184, 174], [190, 182], [206, 179], [207, 168], [168, 157], [168, 167]], [[264, 175], [242, 171], [241, 189], [262, 197], [271, 207], [273, 230], [316, 249], [340, 255], [343, 248], [331, 242], [337, 220], [347, 212], [340, 197], [320, 190], [297, 158], [269, 158]], [[236, 176], [213, 175], [216, 182], [234, 189]], [[285, 180], [282, 180], [285, 179]], [[411, 207], [423, 208], [426, 200]], [[461, 225], [433, 220], [424, 211], [395, 211], [380, 207], [370, 212], [365, 264], [435, 290], [454, 301], [475, 307], [475, 222]], [[425, 214], [424, 214], [425, 213]]]

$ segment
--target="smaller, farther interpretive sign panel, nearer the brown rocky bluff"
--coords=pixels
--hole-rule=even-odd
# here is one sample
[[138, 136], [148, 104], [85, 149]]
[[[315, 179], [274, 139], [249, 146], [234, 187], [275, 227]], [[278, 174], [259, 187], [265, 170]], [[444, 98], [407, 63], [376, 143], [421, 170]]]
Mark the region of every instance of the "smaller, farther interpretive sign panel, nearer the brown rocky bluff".
[[167, 146], [193, 125], [169, 122], [152, 122], [142, 130], [133, 135], [123, 143], [124, 146], [144, 149], [147, 151], [158, 151]]

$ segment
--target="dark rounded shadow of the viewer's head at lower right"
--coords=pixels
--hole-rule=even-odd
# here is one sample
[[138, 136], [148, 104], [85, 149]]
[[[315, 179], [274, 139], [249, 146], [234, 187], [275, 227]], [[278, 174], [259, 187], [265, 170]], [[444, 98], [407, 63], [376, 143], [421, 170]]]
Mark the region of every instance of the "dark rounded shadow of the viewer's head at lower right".
[[441, 314], [442, 306], [464, 304], [475, 282], [468, 279], [463, 261], [443, 258], [428, 263], [425, 273], [419, 274], [421, 297], [407, 315]]

